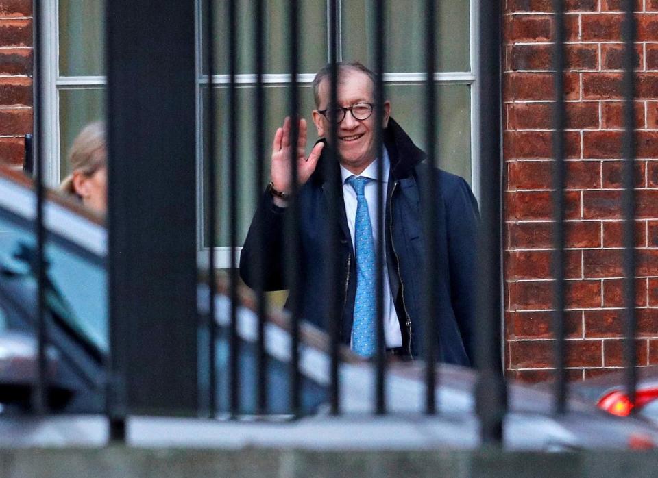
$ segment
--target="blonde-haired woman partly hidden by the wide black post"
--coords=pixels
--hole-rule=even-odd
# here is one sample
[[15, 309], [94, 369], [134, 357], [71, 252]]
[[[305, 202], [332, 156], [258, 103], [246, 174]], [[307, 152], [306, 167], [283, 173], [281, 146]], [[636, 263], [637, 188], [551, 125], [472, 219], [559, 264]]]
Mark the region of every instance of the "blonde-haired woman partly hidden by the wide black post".
[[108, 171], [103, 121], [86, 125], [73, 140], [69, 165], [71, 174], [62, 181], [60, 190], [74, 194], [86, 207], [105, 214], [108, 207]]

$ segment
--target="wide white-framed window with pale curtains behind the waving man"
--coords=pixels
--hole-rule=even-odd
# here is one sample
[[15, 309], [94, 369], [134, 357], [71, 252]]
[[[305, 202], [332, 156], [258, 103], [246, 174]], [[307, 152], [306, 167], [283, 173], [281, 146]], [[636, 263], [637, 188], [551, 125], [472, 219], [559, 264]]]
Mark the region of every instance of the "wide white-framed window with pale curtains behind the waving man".
[[[437, 1], [437, 60], [439, 71], [435, 74], [438, 85], [440, 128], [438, 131], [439, 161], [442, 168], [461, 175], [476, 185], [476, 88], [474, 70], [477, 0]], [[66, 151], [82, 125], [103, 116], [103, 0], [49, 0], [44, 22], [47, 52], [45, 68], [45, 140], [50, 159], [49, 184], [58, 184], [67, 171]], [[287, 95], [290, 88], [288, 69], [287, 0], [268, 0], [265, 8], [265, 78], [266, 117], [254, 118], [255, 75], [253, 60], [254, 2], [239, 0], [238, 33], [238, 103], [243, 106], [239, 114], [239, 242], [245, 238], [254, 212], [256, 191], [254, 174], [257, 161], [266, 162], [266, 178], [269, 177], [269, 144], [274, 131], [286, 116], [289, 108]], [[392, 116], [410, 134], [419, 147], [424, 147], [424, 0], [387, 2], [385, 25], [386, 95], [391, 99]], [[197, 146], [197, 171], [199, 217], [199, 251], [207, 248], [204, 233], [204, 138], [202, 125], [208, 105], [208, 88], [214, 88], [217, 124], [217, 179], [219, 182], [217, 214], [219, 219], [219, 244], [217, 266], [225, 268], [230, 262], [228, 246], [228, 1], [215, 0], [215, 51], [217, 64], [212, 79], [202, 67], [204, 35], [202, 1], [197, 0], [197, 118], [199, 138]], [[311, 121], [313, 92], [310, 83], [315, 72], [328, 60], [327, 0], [300, 2], [300, 114], [309, 123], [308, 149], [315, 140], [315, 127]], [[371, 0], [339, 1], [339, 59], [359, 60], [371, 66], [373, 5]], [[409, 19], [415, 19], [410, 21]], [[443, 120], [443, 121], [441, 121]], [[265, 123], [266, 151], [261, 158], [254, 158], [254, 125]], [[477, 195], [477, 191], [476, 191]], [[199, 261], [207, 259], [199, 255]]]

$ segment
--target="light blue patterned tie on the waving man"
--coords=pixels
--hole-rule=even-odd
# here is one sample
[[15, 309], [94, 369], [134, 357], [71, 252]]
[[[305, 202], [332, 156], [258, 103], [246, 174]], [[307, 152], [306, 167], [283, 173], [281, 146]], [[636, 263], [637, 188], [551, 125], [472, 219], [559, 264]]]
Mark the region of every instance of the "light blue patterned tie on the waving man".
[[375, 247], [372, 225], [365, 199], [367, 177], [351, 176], [348, 184], [356, 192], [356, 221], [354, 221], [354, 247], [356, 248], [356, 299], [352, 323], [352, 349], [359, 355], [371, 357], [375, 353]]

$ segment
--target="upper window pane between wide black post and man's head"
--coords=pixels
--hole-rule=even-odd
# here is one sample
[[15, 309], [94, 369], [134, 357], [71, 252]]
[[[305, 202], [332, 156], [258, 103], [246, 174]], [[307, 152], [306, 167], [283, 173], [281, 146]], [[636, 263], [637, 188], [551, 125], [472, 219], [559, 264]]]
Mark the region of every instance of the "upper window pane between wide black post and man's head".
[[[254, 73], [254, 8], [252, 0], [238, 4], [238, 73]], [[287, 0], [265, 0], [265, 72], [288, 73], [289, 28]], [[327, 62], [326, 0], [298, 3], [300, 25], [298, 58], [300, 73], [315, 73]], [[228, 74], [228, 1], [215, 0], [215, 74]], [[205, 39], [205, 36], [204, 36]], [[205, 53], [205, 51], [204, 51]]]

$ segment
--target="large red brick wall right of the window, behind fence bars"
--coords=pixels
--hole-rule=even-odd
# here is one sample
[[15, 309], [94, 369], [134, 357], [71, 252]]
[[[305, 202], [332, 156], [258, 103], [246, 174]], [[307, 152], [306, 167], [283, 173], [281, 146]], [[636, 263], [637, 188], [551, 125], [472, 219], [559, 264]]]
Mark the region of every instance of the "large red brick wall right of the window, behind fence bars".
[[[620, 1], [567, 0], [566, 328], [570, 377], [622, 365]], [[505, 305], [509, 375], [550, 378], [551, 0], [504, 12]], [[658, 364], [658, 0], [637, 0], [637, 360]]]

